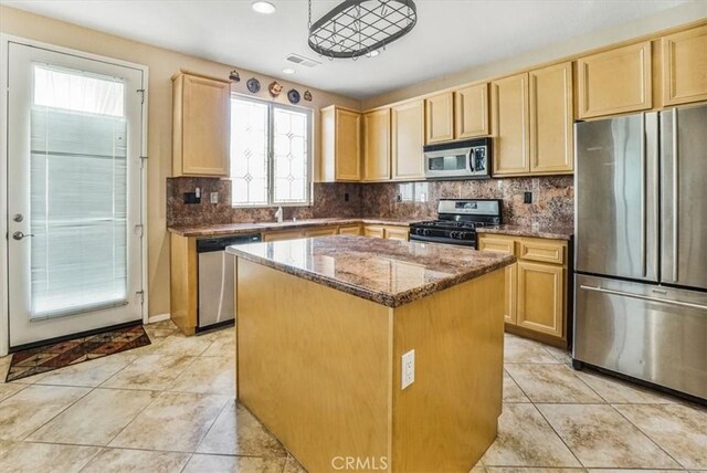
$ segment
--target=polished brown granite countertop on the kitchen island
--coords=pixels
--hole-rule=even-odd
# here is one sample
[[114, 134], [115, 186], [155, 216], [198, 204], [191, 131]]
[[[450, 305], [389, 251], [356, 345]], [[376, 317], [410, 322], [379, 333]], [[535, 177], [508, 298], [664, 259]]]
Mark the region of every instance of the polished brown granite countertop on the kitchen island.
[[247, 243], [228, 253], [388, 307], [513, 264], [515, 256], [444, 244], [366, 236]]

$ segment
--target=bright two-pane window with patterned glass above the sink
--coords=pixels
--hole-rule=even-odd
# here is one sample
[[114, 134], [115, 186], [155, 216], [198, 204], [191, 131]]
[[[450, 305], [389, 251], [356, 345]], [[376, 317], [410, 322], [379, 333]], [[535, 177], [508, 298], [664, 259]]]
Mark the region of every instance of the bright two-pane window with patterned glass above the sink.
[[233, 206], [308, 204], [312, 111], [233, 97]]

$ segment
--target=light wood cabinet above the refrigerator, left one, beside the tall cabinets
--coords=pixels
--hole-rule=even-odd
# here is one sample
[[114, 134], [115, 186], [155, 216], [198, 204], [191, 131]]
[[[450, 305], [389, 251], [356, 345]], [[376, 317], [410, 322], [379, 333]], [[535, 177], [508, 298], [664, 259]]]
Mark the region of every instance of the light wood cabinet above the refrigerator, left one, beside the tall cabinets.
[[577, 60], [579, 118], [650, 109], [651, 42]]

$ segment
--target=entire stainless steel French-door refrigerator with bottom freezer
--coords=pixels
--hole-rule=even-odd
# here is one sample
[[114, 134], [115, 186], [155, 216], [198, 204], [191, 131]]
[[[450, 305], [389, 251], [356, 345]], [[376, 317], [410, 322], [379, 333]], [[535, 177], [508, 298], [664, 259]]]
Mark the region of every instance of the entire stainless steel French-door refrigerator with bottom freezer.
[[574, 366], [707, 399], [707, 105], [574, 127]]

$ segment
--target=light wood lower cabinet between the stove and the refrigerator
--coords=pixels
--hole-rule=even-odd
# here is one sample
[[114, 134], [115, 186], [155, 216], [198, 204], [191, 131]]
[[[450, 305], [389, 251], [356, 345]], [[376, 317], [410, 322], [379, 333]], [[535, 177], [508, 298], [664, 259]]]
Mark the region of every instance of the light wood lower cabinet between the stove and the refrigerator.
[[506, 332], [566, 347], [567, 241], [479, 234], [478, 248], [518, 259], [506, 267]]

